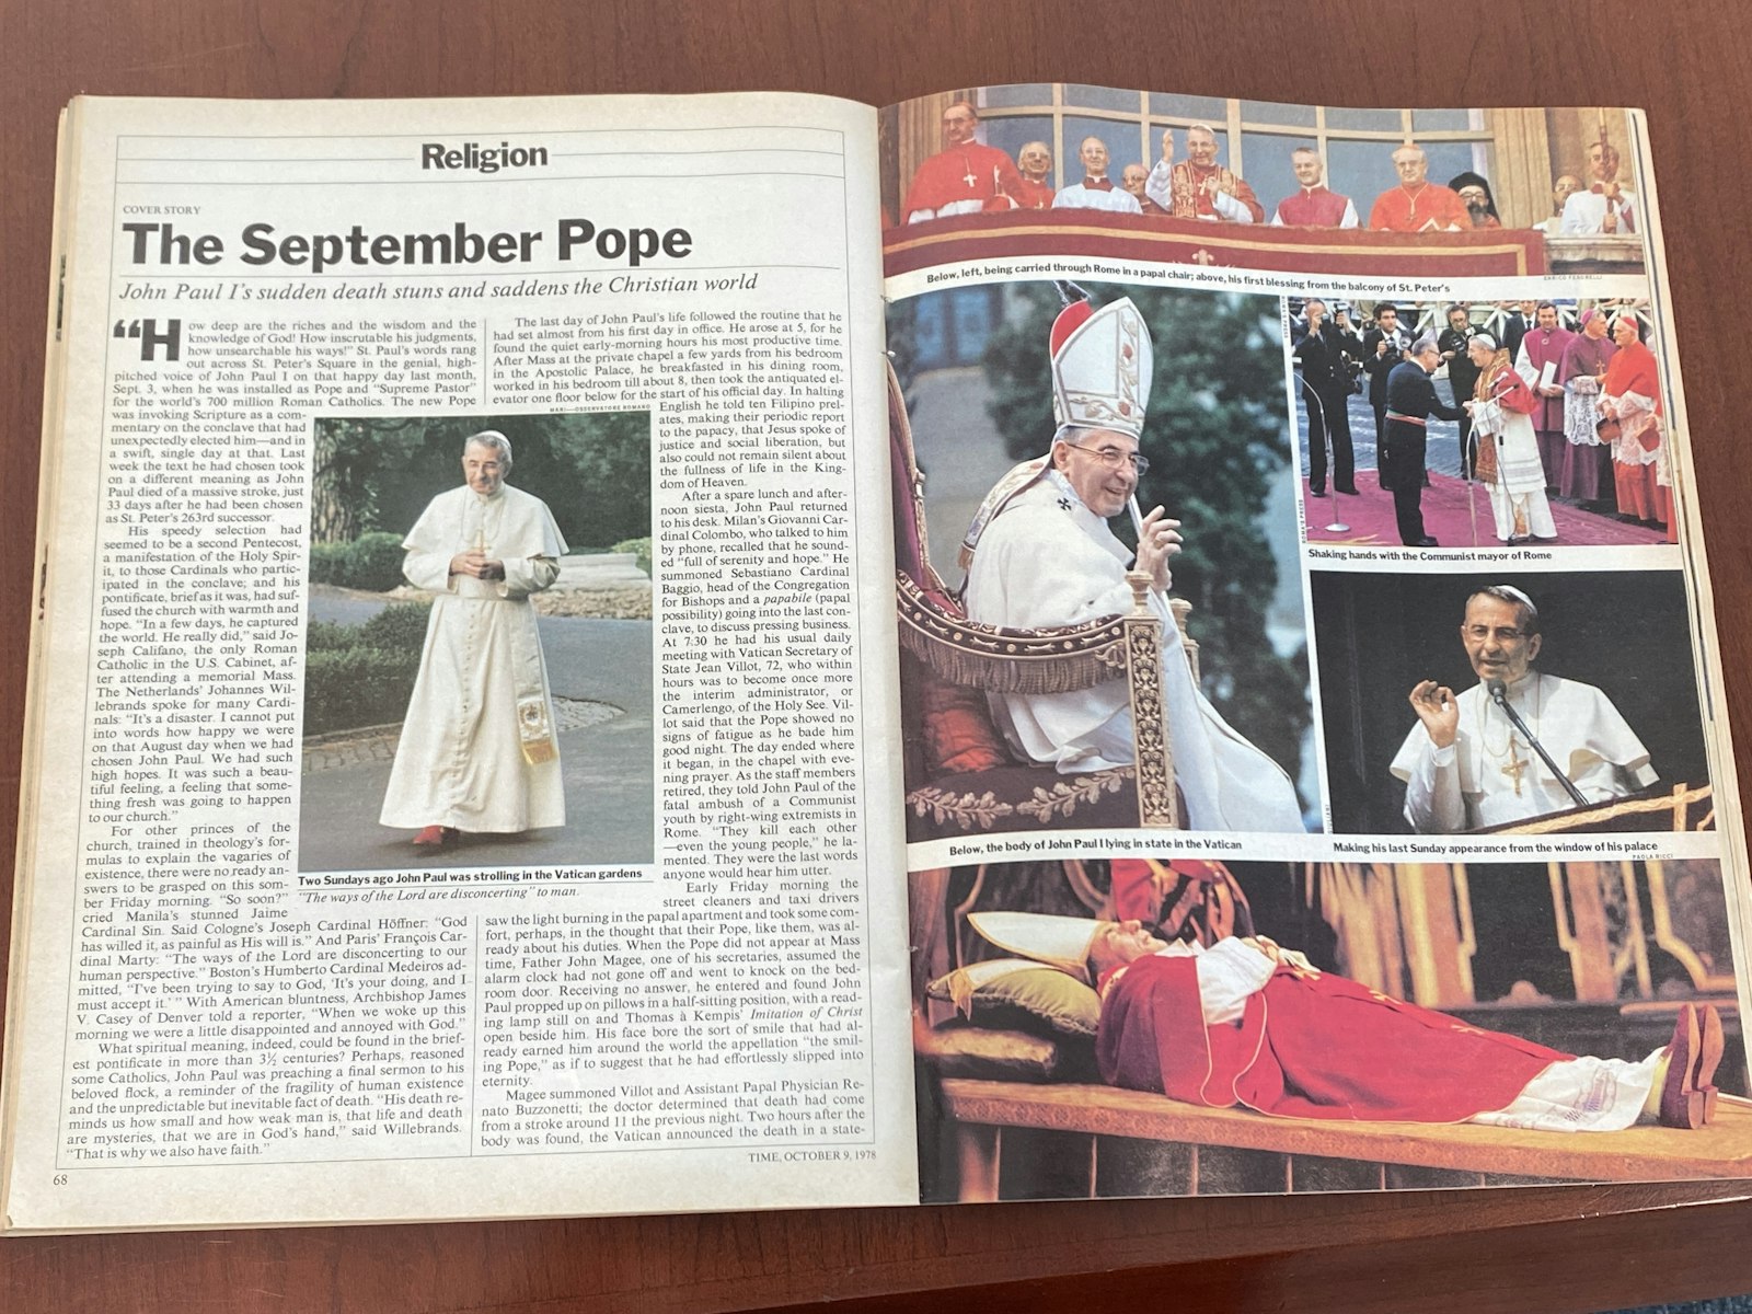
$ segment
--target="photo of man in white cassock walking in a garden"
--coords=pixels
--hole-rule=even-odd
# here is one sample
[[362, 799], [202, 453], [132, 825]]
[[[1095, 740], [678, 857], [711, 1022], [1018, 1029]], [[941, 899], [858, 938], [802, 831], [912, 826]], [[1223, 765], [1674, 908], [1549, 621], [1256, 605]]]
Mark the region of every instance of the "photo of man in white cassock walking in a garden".
[[301, 871], [652, 860], [646, 413], [319, 420], [310, 529]]

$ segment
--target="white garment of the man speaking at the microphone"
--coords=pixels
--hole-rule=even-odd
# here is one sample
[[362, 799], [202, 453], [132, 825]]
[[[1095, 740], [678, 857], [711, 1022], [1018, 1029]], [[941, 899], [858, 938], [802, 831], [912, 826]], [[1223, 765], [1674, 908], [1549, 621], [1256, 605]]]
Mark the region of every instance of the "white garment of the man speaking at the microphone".
[[[1456, 701], [1454, 743], [1437, 748], [1417, 722], [1393, 759], [1414, 830], [1458, 834], [1577, 806], [1484, 685]], [[1642, 739], [1593, 685], [1529, 671], [1508, 687], [1508, 701], [1589, 802], [1635, 794], [1657, 780]]]

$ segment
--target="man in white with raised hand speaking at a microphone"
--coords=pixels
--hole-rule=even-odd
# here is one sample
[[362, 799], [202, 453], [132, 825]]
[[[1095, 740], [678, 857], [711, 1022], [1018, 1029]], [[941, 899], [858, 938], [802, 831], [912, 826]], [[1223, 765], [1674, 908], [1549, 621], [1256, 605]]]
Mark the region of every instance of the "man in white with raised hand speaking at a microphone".
[[1593, 685], [1535, 669], [1538, 608], [1507, 583], [1466, 599], [1459, 627], [1479, 683], [1463, 694], [1421, 680], [1410, 692], [1417, 725], [1393, 759], [1405, 781], [1405, 820], [1419, 834], [1458, 834], [1575, 808], [1526, 736], [1491, 699], [1505, 697], [1589, 802], [1656, 781], [1649, 750]]

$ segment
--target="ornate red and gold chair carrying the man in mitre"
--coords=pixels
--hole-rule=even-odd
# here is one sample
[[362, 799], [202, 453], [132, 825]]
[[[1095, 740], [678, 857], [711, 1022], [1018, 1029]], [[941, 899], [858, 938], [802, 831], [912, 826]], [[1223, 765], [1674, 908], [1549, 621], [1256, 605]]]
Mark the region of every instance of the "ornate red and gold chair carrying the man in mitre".
[[[894, 370], [888, 371], [895, 603], [901, 632], [908, 839], [1077, 829], [1177, 829], [1179, 799], [1162, 704], [1162, 622], [1149, 580], [1130, 576], [1134, 606], [1063, 629], [981, 625], [930, 566], [923, 477]], [[1184, 631], [1190, 603], [1170, 603]], [[1197, 645], [1186, 639], [1197, 678]], [[1060, 774], [1020, 760], [992, 722], [986, 694], [1058, 694], [1125, 680], [1137, 762]]]

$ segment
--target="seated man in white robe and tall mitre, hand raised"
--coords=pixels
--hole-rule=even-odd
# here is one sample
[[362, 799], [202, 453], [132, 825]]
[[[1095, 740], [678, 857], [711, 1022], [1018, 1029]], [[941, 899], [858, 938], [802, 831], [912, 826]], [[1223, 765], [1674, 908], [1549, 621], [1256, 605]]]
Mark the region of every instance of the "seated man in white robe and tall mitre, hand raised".
[[[1107, 527], [1132, 501], [1148, 461], [1137, 443], [1153, 377], [1144, 317], [1130, 300], [1067, 307], [1051, 331], [1048, 456], [1025, 461], [986, 494], [962, 545], [967, 617], [992, 625], [1077, 625], [1132, 610], [1132, 552]], [[1174, 780], [1190, 830], [1303, 830], [1289, 776], [1237, 734], [1193, 683], [1163, 601], [1179, 520], [1142, 517], [1137, 569], [1155, 578], [1162, 617], [1163, 706]], [[1023, 759], [1060, 773], [1137, 760], [1125, 680], [1065, 694], [993, 694], [992, 715]]]

